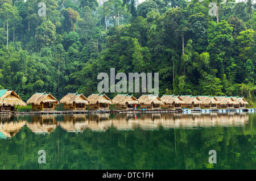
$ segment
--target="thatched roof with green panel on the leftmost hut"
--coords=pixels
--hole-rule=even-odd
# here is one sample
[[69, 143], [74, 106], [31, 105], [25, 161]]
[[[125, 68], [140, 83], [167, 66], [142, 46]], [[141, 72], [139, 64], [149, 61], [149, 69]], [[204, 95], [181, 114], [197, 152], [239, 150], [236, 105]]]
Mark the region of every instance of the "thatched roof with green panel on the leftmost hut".
[[18, 94], [12, 90], [0, 90], [0, 106], [26, 106]]

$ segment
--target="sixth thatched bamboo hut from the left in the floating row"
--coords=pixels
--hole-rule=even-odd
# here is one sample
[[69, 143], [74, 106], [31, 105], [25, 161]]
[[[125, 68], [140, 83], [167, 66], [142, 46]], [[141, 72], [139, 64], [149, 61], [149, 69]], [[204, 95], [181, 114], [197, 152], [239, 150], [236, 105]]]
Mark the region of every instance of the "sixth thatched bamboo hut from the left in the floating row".
[[142, 95], [139, 99], [139, 104], [141, 105], [141, 110], [160, 110], [163, 101], [157, 95]]

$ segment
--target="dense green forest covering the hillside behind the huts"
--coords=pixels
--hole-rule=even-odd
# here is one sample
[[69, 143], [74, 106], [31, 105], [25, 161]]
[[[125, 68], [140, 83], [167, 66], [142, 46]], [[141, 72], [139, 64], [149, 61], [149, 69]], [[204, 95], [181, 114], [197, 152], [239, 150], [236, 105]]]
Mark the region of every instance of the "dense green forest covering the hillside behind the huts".
[[24, 101], [88, 96], [115, 68], [159, 73], [159, 96], [244, 96], [256, 106], [255, 28], [251, 0], [0, 0], [0, 89]]

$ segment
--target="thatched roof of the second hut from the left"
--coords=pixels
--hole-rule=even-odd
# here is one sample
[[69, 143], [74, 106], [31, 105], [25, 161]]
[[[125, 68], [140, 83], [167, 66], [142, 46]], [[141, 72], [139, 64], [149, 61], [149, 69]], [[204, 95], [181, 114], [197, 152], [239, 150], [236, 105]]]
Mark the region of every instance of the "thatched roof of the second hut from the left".
[[51, 94], [46, 94], [46, 92], [35, 93], [30, 99], [27, 100], [27, 104], [40, 105], [42, 102], [59, 104], [59, 101], [55, 97], [53, 97]]

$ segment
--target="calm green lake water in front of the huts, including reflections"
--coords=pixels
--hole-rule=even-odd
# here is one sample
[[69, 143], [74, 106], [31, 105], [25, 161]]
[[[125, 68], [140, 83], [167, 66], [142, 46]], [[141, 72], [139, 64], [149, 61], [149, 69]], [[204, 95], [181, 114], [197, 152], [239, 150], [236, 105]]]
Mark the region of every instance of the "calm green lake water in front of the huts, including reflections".
[[[255, 113], [0, 119], [0, 169], [256, 169]], [[208, 162], [209, 150], [217, 163]]]

